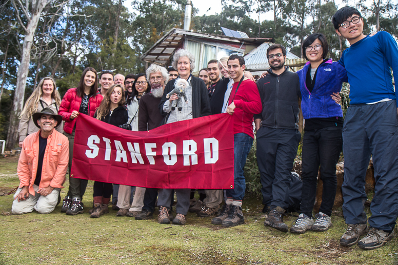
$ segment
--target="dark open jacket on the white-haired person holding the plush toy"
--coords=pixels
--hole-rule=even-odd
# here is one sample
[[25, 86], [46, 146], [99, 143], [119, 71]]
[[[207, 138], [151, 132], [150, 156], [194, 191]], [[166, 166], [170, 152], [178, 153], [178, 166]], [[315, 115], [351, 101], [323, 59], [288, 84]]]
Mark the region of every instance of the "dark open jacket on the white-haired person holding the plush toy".
[[[171, 90], [174, 89], [175, 80], [176, 79], [172, 79], [168, 81], [165, 87], [165, 91], [163, 92], [161, 103], [158, 106], [162, 116], [165, 117], [165, 119], [162, 121], [162, 124], [166, 124], [167, 119], [169, 118], [168, 115], [169, 113], [163, 111], [163, 105], [165, 104], [166, 100], [169, 100], [168, 98], [166, 98], [166, 95], [170, 93]], [[211, 115], [209, 94], [207, 92], [205, 82], [201, 78], [194, 77], [191, 75], [191, 86], [192, 86], [192, 117], [198, 118], [198, 117]]]

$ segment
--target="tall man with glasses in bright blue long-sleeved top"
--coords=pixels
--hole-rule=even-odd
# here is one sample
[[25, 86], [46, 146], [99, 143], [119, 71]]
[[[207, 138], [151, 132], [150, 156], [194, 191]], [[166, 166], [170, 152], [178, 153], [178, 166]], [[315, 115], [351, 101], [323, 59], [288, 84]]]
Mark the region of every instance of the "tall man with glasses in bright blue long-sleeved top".
[[[393, 238], [398, 216], [398, 90], [394, 91], [390, 70], [398, 80], [398, 47], [385, 31], [364, 35], [364, 19], [355, 8], [340, 9], [332, 22], [351, 45], [339, 61], [347, 71], [351, 99], [343, 126], [343, 214], [348, 228], [340, 243], [375, 249]], [[370, 156], [375, 187], [367, 220], [365, 175]]]

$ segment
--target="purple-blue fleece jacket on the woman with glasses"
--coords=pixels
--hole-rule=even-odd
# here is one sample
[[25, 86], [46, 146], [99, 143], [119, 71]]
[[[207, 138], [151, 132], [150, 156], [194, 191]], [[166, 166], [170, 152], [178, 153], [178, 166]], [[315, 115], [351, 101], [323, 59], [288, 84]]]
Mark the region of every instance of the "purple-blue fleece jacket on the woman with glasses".
[[307, 62], [303, 69], [297, 71], [300, 78], [300, 91], [302, 95], [301, 109], [305, 119], [343, 117], [339, 104], [330, 97], [332, 93], [340, 92], [343, 82], [347, 82], [347, 72], [342, 65], [332, 62], [332, 59], [321, 64], [314, 76], [315, 86], [310, 92], [306, 86], [308, 68]]

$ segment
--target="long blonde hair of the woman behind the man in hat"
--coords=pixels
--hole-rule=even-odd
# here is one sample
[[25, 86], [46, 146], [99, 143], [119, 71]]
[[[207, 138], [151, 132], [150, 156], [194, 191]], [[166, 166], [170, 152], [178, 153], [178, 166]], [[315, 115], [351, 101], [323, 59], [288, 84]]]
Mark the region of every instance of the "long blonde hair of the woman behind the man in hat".
[[21, 112], [21, 115], [19, 115], [19, 119], [22, 118], [23, 115], [27, 114], [28, 117], [30, 118], [33, 113], [37, 111], [37, 106], [40, 101], [40, 98], [43, 95], [43, 84], [45, 80], [51, 80], [54, 90], [51, 93], [51, 98], [55, 100], [55, 104], [59, 107], [61, 105], [61, 96], [59, 95], [58, 90], [56, 89], [55, 86], [55, 81], [51, 77], [44, 77], [42, 80], [40, 80], [40, 83], [38, 83], [37, 87], [33, 90], [33, 93], [30, 95], [28, 100], [26, 100], [24, 109]]

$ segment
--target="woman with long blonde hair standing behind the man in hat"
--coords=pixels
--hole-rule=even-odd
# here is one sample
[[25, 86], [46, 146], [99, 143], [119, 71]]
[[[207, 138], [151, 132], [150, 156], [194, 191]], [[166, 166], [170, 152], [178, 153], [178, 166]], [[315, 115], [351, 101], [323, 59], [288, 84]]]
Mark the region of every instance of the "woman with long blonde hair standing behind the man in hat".
[[[50, 108], [54, 113], [58, 113], [59, 105], [61, 105], [61, 96], [56, 90], [55, 81], [51, 77], [44, 77], [40, 80], [38, 86], [34, 89], [32, 95], [26, 100], [25, 107], [19, 116], [19, 147], [29, 134], [39, 130], [34, 125], [32, 115], [40, 112], [45, 108]], [[63, 125], [57, 126], [56, 130], [62, 133]]]

